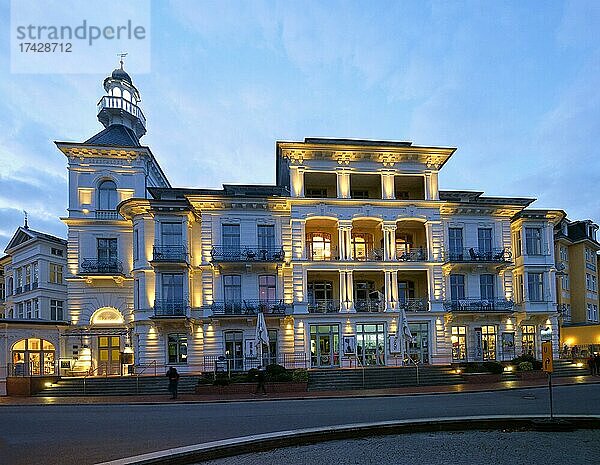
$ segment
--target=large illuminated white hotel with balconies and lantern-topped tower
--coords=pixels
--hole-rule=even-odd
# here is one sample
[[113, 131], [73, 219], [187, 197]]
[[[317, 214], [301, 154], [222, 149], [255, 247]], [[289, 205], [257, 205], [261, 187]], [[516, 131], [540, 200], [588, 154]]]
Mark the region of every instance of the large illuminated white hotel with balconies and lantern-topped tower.
[[[558, 348], [556, 210], [533, 199], [440, 191], [455, 149], [410, 142], [278, 142], [276, 185], [172, 188], [140, 143], [145, 118], [115, 70], [68, 159], [71, 372], [134, 363], [256, 366], [256, 314], [270, 361], [311, 368], [399, 365], [399, 310], [415, 362], [539, 357]], [[130, 360], [129, 360], [130, 361]]]

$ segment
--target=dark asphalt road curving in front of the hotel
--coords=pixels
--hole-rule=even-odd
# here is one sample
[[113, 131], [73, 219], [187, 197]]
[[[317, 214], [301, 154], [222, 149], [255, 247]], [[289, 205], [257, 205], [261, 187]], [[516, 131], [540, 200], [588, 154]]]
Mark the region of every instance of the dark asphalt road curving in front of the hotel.
[[[600, 415], [600, 385], [556, 387], [554, 401], [556, 413]], [[253, 433], [547, 410], [546, 388], [210, 404], [0, 406], [0, 464], [86, 465]]]

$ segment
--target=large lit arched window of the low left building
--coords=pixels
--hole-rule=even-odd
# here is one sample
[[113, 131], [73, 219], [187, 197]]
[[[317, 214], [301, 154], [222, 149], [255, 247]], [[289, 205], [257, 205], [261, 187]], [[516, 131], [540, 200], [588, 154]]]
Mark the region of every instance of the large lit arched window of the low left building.
[[15, 376], [53, 375], [56, 371], [54, 344], [45, 339], [21, 339], [12, 347]]

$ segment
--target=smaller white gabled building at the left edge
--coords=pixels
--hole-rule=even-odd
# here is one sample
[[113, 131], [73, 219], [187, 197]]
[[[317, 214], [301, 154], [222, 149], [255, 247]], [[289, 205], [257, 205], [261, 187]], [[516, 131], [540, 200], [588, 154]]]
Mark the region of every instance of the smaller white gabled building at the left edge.
[[0, 258], [0, 393], [7, 374], [57, 373], [60, 334], [69, 324], [66, 245], [25, 223]]

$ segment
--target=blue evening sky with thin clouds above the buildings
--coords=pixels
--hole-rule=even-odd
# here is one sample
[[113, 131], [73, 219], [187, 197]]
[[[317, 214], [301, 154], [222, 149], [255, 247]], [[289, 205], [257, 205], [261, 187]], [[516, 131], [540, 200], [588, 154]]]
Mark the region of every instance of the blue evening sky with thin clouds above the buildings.
[[[143, 142], [175, 186], [272, 183], [275, 141], [458, 147], [443, 189], [532, 196], [600, 221], [600, 2], [154, 1]], [[0, 29], [9, 27], [0, 6]], [[65, 235], [54, 140], [98, 132], [105, 74], [11, 74], [0, 48], [0, 250]], [[119, 50], [115, 50], [117, 53]], [[127, 67], [127, 66], [126, 66]]]

